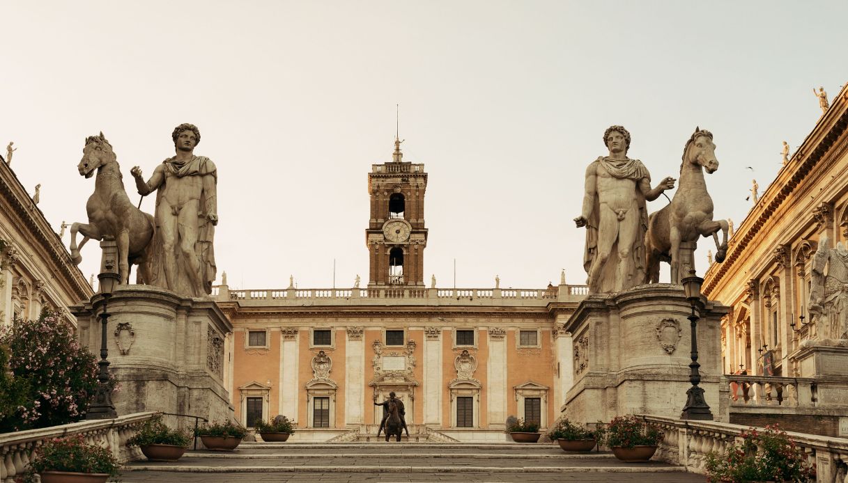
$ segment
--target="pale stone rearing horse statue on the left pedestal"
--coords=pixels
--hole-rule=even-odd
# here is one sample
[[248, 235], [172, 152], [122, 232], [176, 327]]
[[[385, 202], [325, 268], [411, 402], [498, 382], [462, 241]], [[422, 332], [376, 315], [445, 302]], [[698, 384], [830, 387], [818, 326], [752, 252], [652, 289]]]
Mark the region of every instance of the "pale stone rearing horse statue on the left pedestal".
[[[130, 265], [139, 264], [138, 282], [149, 280], [146, 267], [146, 249], [153, 240], [153, 215], [135, 207], [126, 196], [120, 165], [112, 151], [112, 145], [103, 136], [88, 136], [82, 149], [82, 159], [76, 167], [80, 175], [91, 178], [97, 169], [94, 193], [88, 198], [86, 212], [88, 224], [70, 225], [70, 257], [80, 264], [80, 249], [89, 239], [102, 240], [112, 236], [118, 243], [118, 273], [120, 283], [128, 283]], [[83, 238], [76, 245], [76, 233]]]

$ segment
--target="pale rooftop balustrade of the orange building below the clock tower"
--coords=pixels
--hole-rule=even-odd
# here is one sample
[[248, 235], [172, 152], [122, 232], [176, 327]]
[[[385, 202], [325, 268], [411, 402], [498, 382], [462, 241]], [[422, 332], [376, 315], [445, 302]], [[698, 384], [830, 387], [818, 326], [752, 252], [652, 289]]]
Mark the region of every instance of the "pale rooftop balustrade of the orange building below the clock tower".
[[385, 305], [397, 301], [421, 305], [528, 305], [544, 307], [551, 302], [579, 302], [589, 294], [589, 286], [561, 285], [553, 289], [514, 288], [287, 288], [270, 290], [230, 290], [212, 287], [218, 302], [237, 301], [256, 305]]

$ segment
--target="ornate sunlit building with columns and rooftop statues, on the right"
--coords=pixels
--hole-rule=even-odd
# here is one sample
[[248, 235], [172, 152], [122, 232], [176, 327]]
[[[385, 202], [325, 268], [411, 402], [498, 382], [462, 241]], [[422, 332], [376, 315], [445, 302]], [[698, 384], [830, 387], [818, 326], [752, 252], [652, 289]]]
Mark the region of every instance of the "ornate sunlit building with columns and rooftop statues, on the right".
[[823, 236], [829, 247], [848, 243], [846, 96], [843, 88], [834, 97], [739, 224], [725, 261], [706, 272], [704, 293], [732, 308], [722, 320], [722, 367], [746, 375], [730, 386], [732, 422], [779, 417], [784, 427], [848, 431], [837, 428], [848, 416], [848, 341], [825, 342], [841, 337], [811, 316], [809, 302], [822, 283], [812, 271]]

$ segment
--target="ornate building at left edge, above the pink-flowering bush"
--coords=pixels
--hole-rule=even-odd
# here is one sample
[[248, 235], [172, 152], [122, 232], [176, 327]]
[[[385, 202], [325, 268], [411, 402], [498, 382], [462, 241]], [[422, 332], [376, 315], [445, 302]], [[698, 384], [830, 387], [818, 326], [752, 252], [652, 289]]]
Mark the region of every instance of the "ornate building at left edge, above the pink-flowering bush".
[[59, 234], [0, 160], [0, 324], [36, 319], [42, 308], [75, 324], [68, 307], [92, 294]]

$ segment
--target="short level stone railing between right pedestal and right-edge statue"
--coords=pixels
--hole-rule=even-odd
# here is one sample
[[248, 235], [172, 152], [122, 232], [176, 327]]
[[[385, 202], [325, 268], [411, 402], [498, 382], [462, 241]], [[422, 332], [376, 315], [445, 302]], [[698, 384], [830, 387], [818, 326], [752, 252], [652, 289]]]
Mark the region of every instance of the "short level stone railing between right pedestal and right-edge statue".
[[804, 377], [768, 375], [723, 376], [730, 386], [732, 406], [813, 407], [816, 405], [816, 380]]

